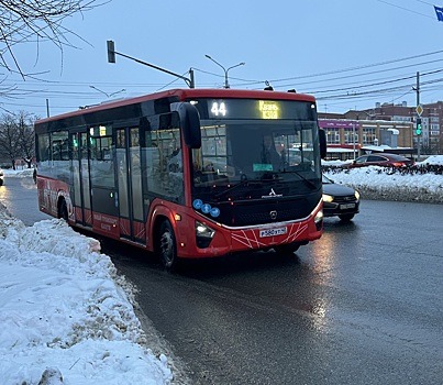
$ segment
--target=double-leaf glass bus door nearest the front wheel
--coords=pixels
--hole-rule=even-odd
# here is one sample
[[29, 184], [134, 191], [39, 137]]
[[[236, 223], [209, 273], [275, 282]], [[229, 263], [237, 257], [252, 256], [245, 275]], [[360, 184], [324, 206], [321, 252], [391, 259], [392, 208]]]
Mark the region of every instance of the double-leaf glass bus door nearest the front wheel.
[[145, 242], [140, 130], [115, 130], [115, 180], [118, 184], [120, 237]]

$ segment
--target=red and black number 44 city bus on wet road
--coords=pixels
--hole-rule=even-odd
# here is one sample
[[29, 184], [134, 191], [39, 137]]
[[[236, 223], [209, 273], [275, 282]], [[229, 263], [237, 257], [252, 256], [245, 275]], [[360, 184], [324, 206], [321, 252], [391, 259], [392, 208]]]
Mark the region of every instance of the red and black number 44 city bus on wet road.
[[42, 119], [35, 135], [41, 211], [156, 252], [167, 270], [321, 237], [311, 96], [174, 89]]

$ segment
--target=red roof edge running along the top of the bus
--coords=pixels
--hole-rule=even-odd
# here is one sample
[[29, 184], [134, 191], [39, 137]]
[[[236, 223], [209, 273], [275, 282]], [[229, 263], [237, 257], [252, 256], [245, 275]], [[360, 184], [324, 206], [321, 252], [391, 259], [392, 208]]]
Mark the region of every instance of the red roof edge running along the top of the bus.
[[233, 99], [265, 99], [265, 100], [301, 100], [314, 102], [313, 96], [296, 94], [296, 92], [280, 92], [268, 90], [242, 90], [242, 89], [225, 89], [225, 88], [188, 88], [188, 89], [170, 89], [167, 91], [144, 95], [135, 98], [120, 99], [110, 102], [103, 102], [97, 106], [78, 109], [73, 112], [67, 112], [49, 118], [40, 119], [35, 124], [43, 124], [51, 121], [56, 121], [66, 118], [74, 118], [86, 116], [89, 113], [104, 111], [113, 108], [142, 103], [144, 101], [176, 98], [177, 100], [186, 100], [191, 98], [233, 98]]

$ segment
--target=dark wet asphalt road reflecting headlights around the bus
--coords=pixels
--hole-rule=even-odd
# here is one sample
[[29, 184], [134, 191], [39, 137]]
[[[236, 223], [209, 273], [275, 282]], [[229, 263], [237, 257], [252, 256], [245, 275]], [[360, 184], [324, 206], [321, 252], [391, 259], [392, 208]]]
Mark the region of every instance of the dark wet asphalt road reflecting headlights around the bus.
[[[19, 218], [35, 209], [24, 204], [12, 205]], [[442, 384], [443, 205], [364, 200], [361, 211], [328, 219], [292, 257], [234, 255], [169, 275], [139, 250], [103, 252], [192, 384]]]

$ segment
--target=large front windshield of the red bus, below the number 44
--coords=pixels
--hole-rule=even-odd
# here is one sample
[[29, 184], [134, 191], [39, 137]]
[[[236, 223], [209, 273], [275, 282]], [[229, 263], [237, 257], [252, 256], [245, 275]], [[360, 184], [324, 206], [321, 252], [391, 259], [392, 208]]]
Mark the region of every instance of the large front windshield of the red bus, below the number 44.
[[246, 180], [302, 182], [312, 188], [320, 179], [314, 121], [202, 120], [201, 135], [201, 148], [192, 150], [197, 190]]

